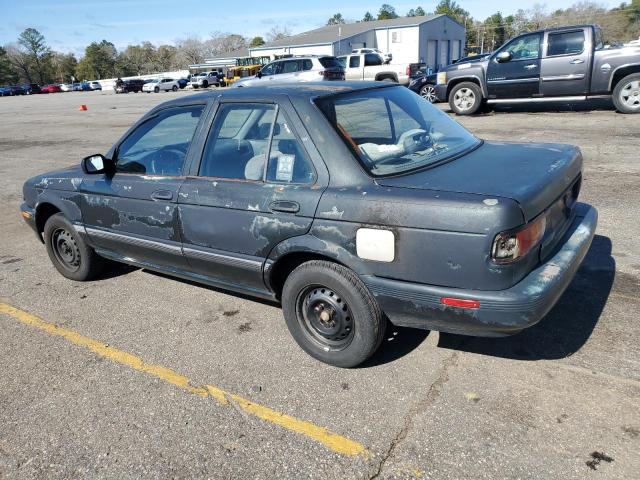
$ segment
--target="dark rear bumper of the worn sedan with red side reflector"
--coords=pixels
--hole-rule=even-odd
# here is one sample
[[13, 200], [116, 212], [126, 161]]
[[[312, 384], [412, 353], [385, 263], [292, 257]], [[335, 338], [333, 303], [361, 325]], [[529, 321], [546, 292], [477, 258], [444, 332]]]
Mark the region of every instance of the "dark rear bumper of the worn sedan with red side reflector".
[[[363, 276], [391, 322], [398, 326], [497, 337], [518, 333], [540, 321], [560, 299], [582, 263], [596, 230], [598, 212], [579, 204], [556, 253], [507, 290], [437, 287]], [[444, 305], [442, 298], [475, 300], [478, 308]]]

